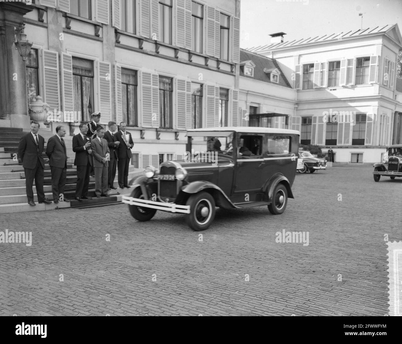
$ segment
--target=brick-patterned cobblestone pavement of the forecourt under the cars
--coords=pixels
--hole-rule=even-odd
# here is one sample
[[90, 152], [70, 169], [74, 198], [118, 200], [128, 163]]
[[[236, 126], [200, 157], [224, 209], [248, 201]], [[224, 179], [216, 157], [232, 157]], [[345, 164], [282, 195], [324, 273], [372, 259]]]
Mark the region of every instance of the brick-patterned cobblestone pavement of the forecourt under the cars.
[[[1, 214], [1, 230], [33, 243], [0, 244], [0, 315], [387, 314], [384, 233], [402, 238], [402, 178], [372, 171], [297, 174], [282, 215], [219, 209], [203, 232], [178, 214], [137, 222], [123, 204]], [[309, 245], [277, 243], [283, 229]]]

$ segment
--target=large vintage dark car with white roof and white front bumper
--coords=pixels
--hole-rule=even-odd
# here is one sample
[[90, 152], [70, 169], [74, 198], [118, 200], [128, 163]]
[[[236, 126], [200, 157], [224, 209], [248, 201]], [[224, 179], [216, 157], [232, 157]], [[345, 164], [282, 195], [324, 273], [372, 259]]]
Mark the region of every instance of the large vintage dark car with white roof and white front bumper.
[[[131, 181], [131, 197], [122, 197], [131, 215], [148, 221], [156, 210], [184, 213], [189, 227], [207, 229], [215, 207], [268, 206], [285, 211], [293, 198], [299, 131], [260, 127], [219, 127], [187, 131], [183, 160], [152, 166]], [[130, 184], [131, 184], [130, 183]]]

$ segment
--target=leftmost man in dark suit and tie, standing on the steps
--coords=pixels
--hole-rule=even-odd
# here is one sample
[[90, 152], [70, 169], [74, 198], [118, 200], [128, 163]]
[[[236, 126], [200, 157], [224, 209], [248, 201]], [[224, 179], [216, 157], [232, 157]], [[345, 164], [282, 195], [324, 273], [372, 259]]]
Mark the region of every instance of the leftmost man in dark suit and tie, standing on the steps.
[[43, 160], [42, 152], [45, 145], [45, 139], [38, 135], [39, 123], [32, 121], [31, 132], [21, 137], [18, 144], [18, 156], [23, 163], [25, 171], [25, 188], [27, 191], [27, 198], [29, 205], [36, 205], [33, 201], [33, 180], [35, 179], [35, 188], [38, 195], [39, 203], [51, 203], [45, 198], [43, 192], [43, 170], [45, 162]]

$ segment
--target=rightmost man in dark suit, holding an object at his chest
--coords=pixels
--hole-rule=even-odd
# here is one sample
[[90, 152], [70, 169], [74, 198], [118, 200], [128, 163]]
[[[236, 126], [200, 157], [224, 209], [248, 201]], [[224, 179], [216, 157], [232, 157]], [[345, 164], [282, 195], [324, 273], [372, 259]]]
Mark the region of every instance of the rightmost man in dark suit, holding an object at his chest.
[[120, 188], [129, 188], [128, 186], [128, 167], [131, 159], [131, 148], [134, 147], [134, 142], [131, 134], [125, 130], [126, 124], [120, 123], [120, 130], [115, 133], [117, 141], [120, 141], [120, 145], [117, 148], [117, 170], [119, 171], [119, 186]]

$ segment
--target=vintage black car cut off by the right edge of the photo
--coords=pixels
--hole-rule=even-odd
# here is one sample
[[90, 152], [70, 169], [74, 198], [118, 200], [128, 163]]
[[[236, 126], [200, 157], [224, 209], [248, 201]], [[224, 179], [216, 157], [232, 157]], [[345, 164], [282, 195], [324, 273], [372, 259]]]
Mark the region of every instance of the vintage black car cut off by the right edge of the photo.
[[378, 182], [381, 176], [389, 176], [391, 179], [402, 177], [402, 145], [392, 145], [387, 149], [388, 156], [379, 163], [375, 163], [374, 181]]

